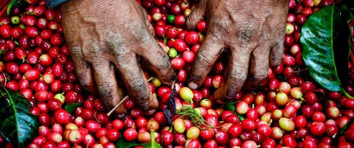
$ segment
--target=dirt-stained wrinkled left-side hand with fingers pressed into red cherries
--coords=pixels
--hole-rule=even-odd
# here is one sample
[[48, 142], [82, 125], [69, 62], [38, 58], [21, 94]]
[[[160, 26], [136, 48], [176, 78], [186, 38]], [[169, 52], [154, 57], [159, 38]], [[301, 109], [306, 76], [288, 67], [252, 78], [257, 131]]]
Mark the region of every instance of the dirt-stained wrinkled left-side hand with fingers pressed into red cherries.
[[[69, 0], [60, 9], [64, 36], [82, 86], [98, 92], [109, 111], [121, 100], [117, 72], [135, 103], [153, 112], [158, 102], [138, 57], [162, 83], [172, 83], [175, 72], [152, 36], [143, 7], [135, 0]], [[116, 110], [125, 112], [123, 106]]]

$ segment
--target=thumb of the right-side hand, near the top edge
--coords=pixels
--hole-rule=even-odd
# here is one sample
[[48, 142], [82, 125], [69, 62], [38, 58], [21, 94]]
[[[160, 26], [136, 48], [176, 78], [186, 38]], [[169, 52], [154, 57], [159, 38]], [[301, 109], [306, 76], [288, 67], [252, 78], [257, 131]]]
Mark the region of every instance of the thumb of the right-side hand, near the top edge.
[[188, 15], [186, 20], [187, 30], [195, 30], [199, 21], [205, 15], [206, 0], [201, 0], [196, 8]]

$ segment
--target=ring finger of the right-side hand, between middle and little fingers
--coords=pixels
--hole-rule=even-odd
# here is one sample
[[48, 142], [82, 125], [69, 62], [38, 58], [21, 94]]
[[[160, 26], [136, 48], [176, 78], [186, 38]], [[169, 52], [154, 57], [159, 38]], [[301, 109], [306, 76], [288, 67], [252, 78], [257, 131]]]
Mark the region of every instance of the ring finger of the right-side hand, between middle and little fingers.
[[244, 84], [245, 89], [255, 89], [267, 77], [269, 69], [269, 49], [264, 46], [255, 48], [251, 55], [249, 77]]

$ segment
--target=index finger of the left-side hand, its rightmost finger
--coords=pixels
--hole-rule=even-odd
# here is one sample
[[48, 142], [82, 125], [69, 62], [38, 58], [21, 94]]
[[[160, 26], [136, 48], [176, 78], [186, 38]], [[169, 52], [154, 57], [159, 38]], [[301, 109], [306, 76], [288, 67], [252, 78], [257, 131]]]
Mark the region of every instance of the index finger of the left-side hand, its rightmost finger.
[[171, 62], [166, 52], [161, 46], [150, 37], [149, 41], [141, 47], [144, 51], [140, 51], [139, 55], [144, 60], [144, 65], [147, 66], [157, 78], [164, 84], [170, 85], [174, 82], [176, 72], [171, 66]]

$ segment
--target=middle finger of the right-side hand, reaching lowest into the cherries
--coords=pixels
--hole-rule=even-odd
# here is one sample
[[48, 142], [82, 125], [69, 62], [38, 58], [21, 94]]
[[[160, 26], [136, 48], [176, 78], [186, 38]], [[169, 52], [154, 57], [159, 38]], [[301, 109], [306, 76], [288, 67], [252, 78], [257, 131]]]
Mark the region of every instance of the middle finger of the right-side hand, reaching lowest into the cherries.
[[250, 49], [245, 47], [230, 47], [231, 56], [226, 69], [225, 80], [221, 83], [219, 89], [214, 93], [216, 100], [235, 98], [236, 93], [240, 91], [244, 84], [250, 61]]

